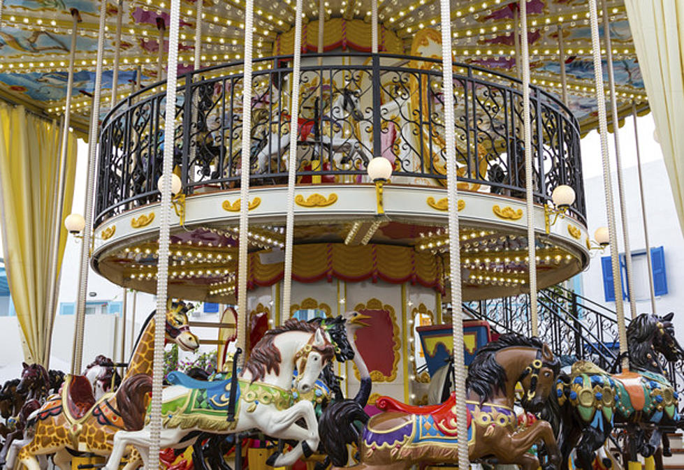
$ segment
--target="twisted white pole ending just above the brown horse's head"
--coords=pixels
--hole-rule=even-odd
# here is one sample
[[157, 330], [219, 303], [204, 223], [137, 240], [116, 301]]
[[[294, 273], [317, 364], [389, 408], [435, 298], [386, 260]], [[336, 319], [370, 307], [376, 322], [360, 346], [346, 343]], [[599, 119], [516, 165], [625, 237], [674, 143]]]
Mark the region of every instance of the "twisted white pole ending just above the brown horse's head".
[[[527, 270], [530, 273], [530, 323], [539, 336], [537, 318], [537, 244], [534, 236], [534, 187], [532, 186], [532, 119], [530, 117], [530, 50], [527, 48], [527, 1], [520, 0], [521, 72], [523, 73], [523, 140], [525, 141], [525, 214], [527, 215]], [[539, 99], [539, 96], [537, 96]]]

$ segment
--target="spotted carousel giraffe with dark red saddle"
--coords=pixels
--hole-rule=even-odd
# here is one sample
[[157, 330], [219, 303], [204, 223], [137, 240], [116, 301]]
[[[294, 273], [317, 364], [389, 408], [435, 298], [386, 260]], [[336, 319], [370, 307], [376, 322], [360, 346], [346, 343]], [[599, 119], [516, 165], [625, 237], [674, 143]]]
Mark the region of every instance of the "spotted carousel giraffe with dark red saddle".
[[[199, 347], [199, 342], [189, 330], [188, 309], [189, 306], [183, 302], [170, 304], [163, 326], [165, 343], [177, 344], [184, 351], [195, 351]], [[116, 394], [108, 392], [96, 400], [92, 386], [84, 376], [66, 377], [61, 394], [53, 396], [34, 417], [34, 436], [19, 451], [18, 459], [22, 464], [29, 470], [38, 470], [36, 456], [57, 453], [54, 457], [55, 463], [66, 470], [71, 459], [67, 449], [107, 456], [112, 450], [117, 432], [142, 427], [140, 423], [143, 422], [145, 413], [143, 398], [148, 388], [146, 380], [152, 376], [155, 328], [153, 311], [140, 331], [129, 367]], [[128, 385], [122, 390], [124, 383]], [[131, 401], [135, 400], [138, 400], [136, 404], [131, 404]], [[120, 404], [123, 404], [126, 411], [118, 408]], [[131, 406], [136, 408], [136, 411], [142, 410], [143, 417], [140, 418], [136, 414], [135, 419], [124, 418], [122, 413], [132, 412], [129, 409]], [[130, 427], [131, 425], [134, 426]], [[139, 462], [131, 458], [127, 468], [133, 469], [137, 463]], [[11, 469], [13, 462], [8, 464], [8, 468]]]

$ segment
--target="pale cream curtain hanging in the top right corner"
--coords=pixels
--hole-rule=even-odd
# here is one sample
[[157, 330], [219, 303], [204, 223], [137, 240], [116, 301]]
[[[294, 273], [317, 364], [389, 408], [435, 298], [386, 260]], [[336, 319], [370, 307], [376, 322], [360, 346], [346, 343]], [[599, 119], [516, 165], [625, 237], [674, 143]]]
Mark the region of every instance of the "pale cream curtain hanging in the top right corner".
[[684, 233], [684, 1], [625, 0], [625, 6]]

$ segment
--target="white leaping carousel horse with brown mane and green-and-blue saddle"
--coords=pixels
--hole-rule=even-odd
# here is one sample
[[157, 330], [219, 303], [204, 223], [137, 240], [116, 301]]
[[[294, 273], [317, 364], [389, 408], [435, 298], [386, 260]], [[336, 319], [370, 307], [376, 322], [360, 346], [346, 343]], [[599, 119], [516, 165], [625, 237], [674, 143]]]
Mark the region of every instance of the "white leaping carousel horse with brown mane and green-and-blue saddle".
[[[323, 366], [334, 353], [322, 328], [291, 318], [266, 332], [256, 344], [245, 369], [238, 374], [236, 390], [231, 379], [208, 383], [178, 374], [183, 385], [163, 390], [161, 448], [187, 447], [202, 432], [237, 434], [256, 428], [277, 439], [298, 442], [288, 453], [272, 455], [268, 462], [272, 466], [291, 465], [300, 456], [310, 455], [319, 444], [314, 406], [306, 399], [296, 402], [296, 398], [314, 390]], [[233, 420], [228, 420], [231, 413]], [[296, 423], [300, 419], [306, 428]], [[118, 469], [129, 445], [136, 446], [147, 462], [149, 425], [137, 432], [118, 432], [104, 470]]]

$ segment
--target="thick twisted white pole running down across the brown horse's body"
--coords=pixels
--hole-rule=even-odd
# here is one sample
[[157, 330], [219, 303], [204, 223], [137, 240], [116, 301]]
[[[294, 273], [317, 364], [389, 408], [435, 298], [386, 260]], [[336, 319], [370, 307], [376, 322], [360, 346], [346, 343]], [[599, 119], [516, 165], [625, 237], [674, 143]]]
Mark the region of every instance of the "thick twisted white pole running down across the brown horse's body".
[[[458, 466], [468, 468], [468, 435], [465, 410], [465, 361], [463, 359], [463, 296], [461, 295], [460, 236], [458, 228], [458, 185], [456, 175], [456, 135], [453, 101], [453, 59], [451, 51], [451, 12], [449, 0], [440, 0], [442, 20], [442, 74], [444, 87], [444, 128], [446, 132], [446, 194], [449, 202], [449, 279], [451, 281], [451, 328], [453, 335], [453, 372], [456, 390], [456, 432]], [[375, 110], [379, 112], [379, 110]]]

